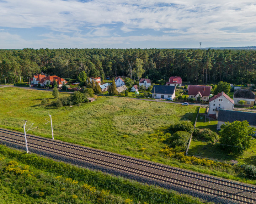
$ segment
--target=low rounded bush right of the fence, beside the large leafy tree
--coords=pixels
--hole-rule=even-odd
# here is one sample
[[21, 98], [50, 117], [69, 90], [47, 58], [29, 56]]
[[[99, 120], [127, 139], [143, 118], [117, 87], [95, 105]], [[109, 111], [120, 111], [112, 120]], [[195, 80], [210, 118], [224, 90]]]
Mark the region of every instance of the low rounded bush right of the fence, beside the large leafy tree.
[[193, 136], [196, 137], [198, 140], [211, 141], [211, 142], [217, 142], [219, 139], [218, 134], [216, 132], [213, 132], [210, 129], [196, 128], [193, 132]]

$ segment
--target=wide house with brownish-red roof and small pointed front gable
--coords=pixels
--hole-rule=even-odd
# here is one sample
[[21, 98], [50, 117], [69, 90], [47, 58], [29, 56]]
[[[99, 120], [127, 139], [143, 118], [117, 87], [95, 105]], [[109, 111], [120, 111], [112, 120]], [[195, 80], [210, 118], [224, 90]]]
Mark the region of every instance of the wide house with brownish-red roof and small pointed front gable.
[[208, 101], [210, 97], [210, 90], [212, 86], [199, 86], [199, 85], [188, 85], [188, 98], [201, 97], [202, 101]]

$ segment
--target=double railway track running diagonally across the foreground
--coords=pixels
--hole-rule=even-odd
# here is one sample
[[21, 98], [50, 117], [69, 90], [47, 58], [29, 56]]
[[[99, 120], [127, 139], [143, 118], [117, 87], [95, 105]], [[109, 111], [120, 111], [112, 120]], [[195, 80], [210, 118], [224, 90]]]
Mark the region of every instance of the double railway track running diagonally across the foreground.
[[[21, 132], [0, 128], [0, 140], [25, 146], [24, 135]], [[256, 204], [256, 187], [250, 185], [30, 134], [27, 135], [27, 140], [30, 148], [106, 166], [241, 203]]]

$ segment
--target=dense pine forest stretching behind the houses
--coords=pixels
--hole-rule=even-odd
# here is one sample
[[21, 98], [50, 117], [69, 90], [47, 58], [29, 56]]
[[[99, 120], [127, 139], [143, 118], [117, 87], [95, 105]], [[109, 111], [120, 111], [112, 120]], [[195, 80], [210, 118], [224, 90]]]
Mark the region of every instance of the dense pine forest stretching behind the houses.
[[0, 79], [28, 81], [43, 72], [76, 79], [84, 70], [89, 77], [114, 76], [138, 80], [148, 77], [164, 84], [177, 75], [185, 82], [212, 84], [227, 81], [254, 84], [256, 51], [175, 49], [23, 49], [0, 50]]

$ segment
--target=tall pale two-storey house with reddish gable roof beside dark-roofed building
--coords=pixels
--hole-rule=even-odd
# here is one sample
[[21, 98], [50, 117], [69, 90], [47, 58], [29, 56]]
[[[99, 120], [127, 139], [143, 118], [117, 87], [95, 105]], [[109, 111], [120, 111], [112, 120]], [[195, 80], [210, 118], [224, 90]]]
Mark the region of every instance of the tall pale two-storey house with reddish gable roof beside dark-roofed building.
[[209, 100], [208, 115], [213, 118], [218, 118], [219, 109], [231, 110], [234, 108], [234, 101], [223, 91], [213, 96]]

